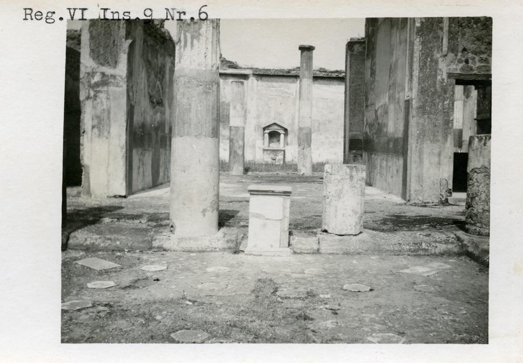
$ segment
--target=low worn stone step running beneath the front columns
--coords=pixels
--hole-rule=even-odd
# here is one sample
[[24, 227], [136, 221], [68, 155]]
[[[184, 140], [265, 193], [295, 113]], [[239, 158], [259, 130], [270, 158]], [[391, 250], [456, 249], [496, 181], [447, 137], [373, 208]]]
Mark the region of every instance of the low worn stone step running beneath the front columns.
[[[120, 226], [120, 228], [123, 226]], [[118, 229], [120, 229], [118, 228]], [[238, 253], [247, 247], [248, 228], [224, 227], [211, 237], [174, 238], [169, 232], [77, 229], [71, 234], [69, 248], [77, 250], [170, 250], [185, 252], [226, 251]], [[131, 228], [132, 229], [132, 228]], [[141, 232], [141, 233], [139, 233]], [[455, 226], [437, 230], [400, 230], [378, 232], [364, 229], [356, 236], [337, 236], [320, 232], [293, 230], [292, 254], [462, 256], [467, 255], [488, 266], [488, 237], [472, 236]], [[248, 253], [248, 251], [247, 251]], [[289, 256], [288, 253], [282, 254]]]

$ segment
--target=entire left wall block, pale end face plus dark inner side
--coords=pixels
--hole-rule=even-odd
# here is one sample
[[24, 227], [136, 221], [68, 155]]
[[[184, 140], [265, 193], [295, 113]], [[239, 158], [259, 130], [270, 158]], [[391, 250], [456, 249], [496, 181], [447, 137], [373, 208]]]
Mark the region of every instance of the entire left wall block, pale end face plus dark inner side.
[[130, 195], [169, 180], [174, 43], [157, 24], [82, 26], [83, 194]]

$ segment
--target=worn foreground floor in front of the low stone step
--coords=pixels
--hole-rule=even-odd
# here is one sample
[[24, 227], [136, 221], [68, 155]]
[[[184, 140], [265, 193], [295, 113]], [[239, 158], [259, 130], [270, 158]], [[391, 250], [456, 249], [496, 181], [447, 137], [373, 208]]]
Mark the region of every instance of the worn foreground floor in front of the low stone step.
[[[86, 257], [121, 266], [75, 263]], [[167, 269], [141, 269], [150, 265]], [[88, 288], [94, 281], [116, 286]], [[171, 335], [184, 330], [204, 332], [204, 343], [488, 339], [488, 272], [466, 257], [69, 250], [62, 301], [75, 300], [90, 307], [62, 311], [62, 343], [177, 343]]]

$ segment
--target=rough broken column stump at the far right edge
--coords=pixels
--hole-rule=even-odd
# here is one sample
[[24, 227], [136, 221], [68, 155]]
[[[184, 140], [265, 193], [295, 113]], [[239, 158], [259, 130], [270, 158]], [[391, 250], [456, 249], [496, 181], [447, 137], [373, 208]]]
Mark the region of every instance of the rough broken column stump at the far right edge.
[[490, 134], [469, 139], [465, 227], [468, 233], [478, 236], [490, 236], [490, 145]]

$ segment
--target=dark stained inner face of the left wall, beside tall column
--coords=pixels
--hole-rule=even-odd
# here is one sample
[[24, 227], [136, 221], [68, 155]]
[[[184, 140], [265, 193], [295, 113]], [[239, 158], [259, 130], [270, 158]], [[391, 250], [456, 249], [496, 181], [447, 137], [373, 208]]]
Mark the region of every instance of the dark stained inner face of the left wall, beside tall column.
[[132, 25], [128, 57], [128, 125], [132, 158], [128, 193], [170, 178], [170, 109], [173, 100], [174, 43], [155, 28]]

